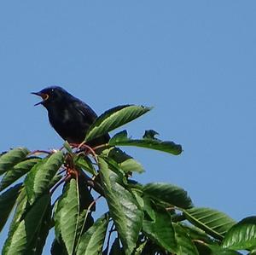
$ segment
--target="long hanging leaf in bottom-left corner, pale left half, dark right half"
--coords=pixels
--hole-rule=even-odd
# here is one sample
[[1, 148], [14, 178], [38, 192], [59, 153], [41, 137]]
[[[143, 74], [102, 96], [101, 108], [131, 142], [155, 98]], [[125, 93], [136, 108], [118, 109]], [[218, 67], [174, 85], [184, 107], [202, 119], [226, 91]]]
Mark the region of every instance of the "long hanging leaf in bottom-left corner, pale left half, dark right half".
[[17, 224], [13, 235], [9, 235], [4, 247], [3, 255], [23, 255], [30, 246], [35, 234], [41, 226], [44, 212], [49, 206], [48, 194], [42, 196], [26, 213], [26, 217]]

